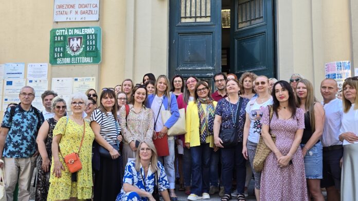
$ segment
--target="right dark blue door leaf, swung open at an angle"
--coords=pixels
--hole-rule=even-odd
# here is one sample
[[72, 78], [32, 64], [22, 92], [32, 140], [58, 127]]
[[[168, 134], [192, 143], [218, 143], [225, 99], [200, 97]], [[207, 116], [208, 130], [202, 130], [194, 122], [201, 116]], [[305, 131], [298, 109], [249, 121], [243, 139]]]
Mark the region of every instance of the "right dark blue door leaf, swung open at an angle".
[[245, 71], [273, 77], [274, 29], [272, 0], [232, 1], [231, 66], [238, 76]]

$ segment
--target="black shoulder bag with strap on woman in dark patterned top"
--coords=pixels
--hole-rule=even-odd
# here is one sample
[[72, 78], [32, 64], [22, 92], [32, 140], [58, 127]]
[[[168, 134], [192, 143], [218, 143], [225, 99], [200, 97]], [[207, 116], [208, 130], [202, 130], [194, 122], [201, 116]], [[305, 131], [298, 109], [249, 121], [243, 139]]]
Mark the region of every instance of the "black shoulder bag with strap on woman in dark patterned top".
[[[229, 100], [229, 104], [230, 104], [230, 100]], [[219, 137], [223, 142], [222, 145], [224, 148], [235, 147], [238, 144], [238, 129], [236, 129], [236, 127], [238, 127], [241, 105], [242, 105], [242, 98], [239, 97], [239, 104], [236, 108], [235, 125], [230, 129], [220, 130]], [[231, 106], [230, 106], [230, 109], [231, 109]], [[231, 109], [231, 115], [232, 115], [232, 118], [234, 119], [234, 112], [232, 111], [232, 109]]]

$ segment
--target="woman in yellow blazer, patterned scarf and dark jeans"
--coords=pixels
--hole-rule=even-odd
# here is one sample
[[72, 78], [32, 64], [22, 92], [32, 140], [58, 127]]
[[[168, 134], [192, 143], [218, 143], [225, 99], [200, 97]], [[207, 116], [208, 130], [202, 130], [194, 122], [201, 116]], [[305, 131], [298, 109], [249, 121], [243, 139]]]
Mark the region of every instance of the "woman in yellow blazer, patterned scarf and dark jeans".
[[189, 102], [186, 111], [185, 146], [191, 154], [191, 194], [188, 200], [210, 199], [210, 156], [213, 152], [214, 112], [217, 102], [211, 98], [205, 81], [195, 86], [195, 101]]

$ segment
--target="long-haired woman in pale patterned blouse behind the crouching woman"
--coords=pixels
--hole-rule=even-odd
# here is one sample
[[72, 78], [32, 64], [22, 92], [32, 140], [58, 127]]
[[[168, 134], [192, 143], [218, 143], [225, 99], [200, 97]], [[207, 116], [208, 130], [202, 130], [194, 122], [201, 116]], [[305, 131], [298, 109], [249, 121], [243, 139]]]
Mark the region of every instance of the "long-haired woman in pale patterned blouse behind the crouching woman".
[[126, 106], [119, 110], [119, 124], [123, 133], [123, 165], [126, 167], [129, 158], [134, 159], [139, 143], [152, 140], [154, 118], [150, 108], [145, 106], [147, 89], [144, 85], [136, 85], [129, 100], [129, 113]]

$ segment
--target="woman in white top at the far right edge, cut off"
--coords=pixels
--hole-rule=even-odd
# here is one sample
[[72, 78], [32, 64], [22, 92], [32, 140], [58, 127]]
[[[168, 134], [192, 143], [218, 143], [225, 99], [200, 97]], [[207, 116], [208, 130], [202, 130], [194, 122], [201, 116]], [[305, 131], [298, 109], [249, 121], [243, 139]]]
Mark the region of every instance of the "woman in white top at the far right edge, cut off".
[[343, 115], [339, 140], [343, 142], [341, 200], [358, 200], [358, 76], [343, 83]]

